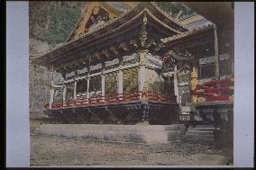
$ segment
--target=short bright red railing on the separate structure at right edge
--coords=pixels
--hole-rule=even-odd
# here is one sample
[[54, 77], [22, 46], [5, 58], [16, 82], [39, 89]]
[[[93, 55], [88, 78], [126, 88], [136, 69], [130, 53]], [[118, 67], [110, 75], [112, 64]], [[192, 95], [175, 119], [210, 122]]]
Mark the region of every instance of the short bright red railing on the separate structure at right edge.
[[212, 80], [203, 85], [197, 85], [192, 94], [204, 98], [206, 102], [233, 101], [233, 78]]

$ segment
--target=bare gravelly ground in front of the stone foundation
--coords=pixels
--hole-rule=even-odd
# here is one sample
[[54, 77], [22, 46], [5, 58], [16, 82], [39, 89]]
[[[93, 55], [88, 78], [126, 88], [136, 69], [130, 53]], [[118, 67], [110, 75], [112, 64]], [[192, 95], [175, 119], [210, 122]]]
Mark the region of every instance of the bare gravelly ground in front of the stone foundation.
[[232, 152], [209, 144], [134, 144], [31, 136], [31, 166], [225, 166]]

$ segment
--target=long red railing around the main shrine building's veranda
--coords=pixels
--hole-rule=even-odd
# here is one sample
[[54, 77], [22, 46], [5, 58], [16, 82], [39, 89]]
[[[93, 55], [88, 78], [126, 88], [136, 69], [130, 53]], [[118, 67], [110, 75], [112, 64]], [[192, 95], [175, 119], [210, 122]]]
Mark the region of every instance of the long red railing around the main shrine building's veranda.
[[[158, 101], [166, 103], [177, 103], [175, 95], [148, 92], [130, 92], [124, 94], [108, 94], [105, 96], [93, 96], [89, 99], [77, 99], [76, 101], [64, 101], [58, 103], [52, 103], [51, 108], [69, 108], [69, 107], [79, 107], [92, 104], [102, 104], [102, 103], [122, 103], [138, 100], [148, 100], [148, 101]], [[45, 109], [50, 109], [49, 103], [44, 103]]]

